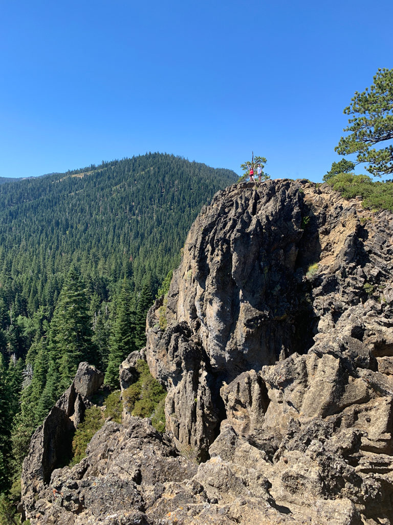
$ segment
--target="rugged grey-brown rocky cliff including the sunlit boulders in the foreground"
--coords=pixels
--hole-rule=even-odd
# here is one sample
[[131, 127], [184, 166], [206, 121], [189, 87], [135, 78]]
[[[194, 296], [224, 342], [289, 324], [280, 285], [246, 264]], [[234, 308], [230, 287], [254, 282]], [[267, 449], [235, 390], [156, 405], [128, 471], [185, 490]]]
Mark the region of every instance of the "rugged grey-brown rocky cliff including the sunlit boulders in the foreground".
[[147, 318], [167, 434], [108, 421], [31, 523], [393, 523], [392, 232], [327, 185], [216, 194]]

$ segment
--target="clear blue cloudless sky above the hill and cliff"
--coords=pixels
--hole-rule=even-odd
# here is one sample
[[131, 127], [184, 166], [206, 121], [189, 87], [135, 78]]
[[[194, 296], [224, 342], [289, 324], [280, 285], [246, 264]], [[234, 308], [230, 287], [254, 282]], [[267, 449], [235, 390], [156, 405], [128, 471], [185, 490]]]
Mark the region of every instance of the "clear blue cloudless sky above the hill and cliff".
[[317, 182], [354, 92], [393, 67], [391, 0], [0, 7], [4, 177], [148, 151], [241, 173], [254, 150], [272, 178]]

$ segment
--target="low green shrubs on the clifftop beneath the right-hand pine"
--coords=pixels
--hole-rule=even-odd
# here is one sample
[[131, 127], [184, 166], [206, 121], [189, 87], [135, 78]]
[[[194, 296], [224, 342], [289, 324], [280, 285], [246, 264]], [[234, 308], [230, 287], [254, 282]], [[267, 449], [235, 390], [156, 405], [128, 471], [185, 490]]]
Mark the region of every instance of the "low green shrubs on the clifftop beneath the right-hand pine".
[[360, 195], [366, 209], [393, 211], [393, 183], [390, 181], [373, 182], [367, 175], [341, 173], [331, 177], [328, 183], [345, 198]]

